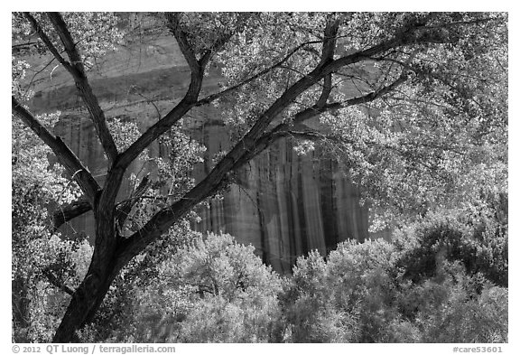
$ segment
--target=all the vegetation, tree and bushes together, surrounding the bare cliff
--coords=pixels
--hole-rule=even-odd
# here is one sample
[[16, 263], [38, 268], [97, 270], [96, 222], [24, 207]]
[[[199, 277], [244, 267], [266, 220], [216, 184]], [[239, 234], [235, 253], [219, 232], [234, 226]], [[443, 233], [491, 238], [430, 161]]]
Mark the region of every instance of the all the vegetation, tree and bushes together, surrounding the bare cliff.
[[[506, 14], [146, 16], [13, 14], [14, 341], [507, 341]], [[88, 75], [145, 32], [177, 43], [190, 85], [140, 132], [106, 117]], [[60, 113], [31, 112], [53, 62], [103, 146], [102, 186], [53, 133]], [[214, 68], [221, 91], [200, 98]], [[181, 120], [204, 105], [233, 138], [195, 183], [204, 147]], [[278, 139], [334, 157], [392, 242], [344, 242], [278, 276], [191, 231], [193, 209]], [[148, 156], [156, 140], [168, 157]], [[125, 174], [143, 159], [153, 177]], [[95, 236], [60, 235], [89, 210]]]

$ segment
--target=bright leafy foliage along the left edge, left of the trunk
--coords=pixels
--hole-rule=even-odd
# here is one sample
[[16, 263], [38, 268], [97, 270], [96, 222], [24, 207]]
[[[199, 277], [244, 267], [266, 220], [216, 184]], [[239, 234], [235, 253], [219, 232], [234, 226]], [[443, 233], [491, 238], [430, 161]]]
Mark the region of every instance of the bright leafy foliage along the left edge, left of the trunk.
[[[48, 125], [56, 116], [41, 117]], [[49, 165], [49, 148], [27, 128], [12, 126], [13, 340], [50, 341], [73, 290], [87, 274], [92, 247], [81, 238], [52, 233], [48, 210], [79, 196], [62, 168]]]

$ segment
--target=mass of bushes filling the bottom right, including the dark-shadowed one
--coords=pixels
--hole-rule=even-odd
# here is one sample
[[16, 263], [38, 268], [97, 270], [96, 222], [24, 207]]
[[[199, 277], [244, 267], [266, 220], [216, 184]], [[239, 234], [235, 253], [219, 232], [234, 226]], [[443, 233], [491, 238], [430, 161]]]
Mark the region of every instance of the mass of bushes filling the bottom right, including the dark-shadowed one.
[[507, 341], [506, 239], [487, 244], [482, 226], [460, 227], [432, 218], [395, 244], [349, 241], [327, 260], [300, 257], [283, 294], [286, 340]]

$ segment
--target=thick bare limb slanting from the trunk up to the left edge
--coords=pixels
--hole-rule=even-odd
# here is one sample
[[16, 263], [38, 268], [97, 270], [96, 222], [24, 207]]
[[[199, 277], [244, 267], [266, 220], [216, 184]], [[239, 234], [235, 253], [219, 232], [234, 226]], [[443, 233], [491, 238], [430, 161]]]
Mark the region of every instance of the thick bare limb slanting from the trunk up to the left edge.
[[101, 188], [94, 177], [92, 177], [92, 174], [89, 173], [87, 168], [79, 161], [76, 154], [70, 150], [69, 146], [66, 145], [59, 136], [52, 135], [45, 126], [42, 126], [14, 97], [12, 97], [12, 109], [14, 113], [22, 119], [23, 123], [42, 139], [43, 143], [51, 147], [52, 152], [56, 154], [60, 164], [67, 169], [72, 179], [78, 183], [81, 191], [87, 196], [88, 201], [94, 203]]

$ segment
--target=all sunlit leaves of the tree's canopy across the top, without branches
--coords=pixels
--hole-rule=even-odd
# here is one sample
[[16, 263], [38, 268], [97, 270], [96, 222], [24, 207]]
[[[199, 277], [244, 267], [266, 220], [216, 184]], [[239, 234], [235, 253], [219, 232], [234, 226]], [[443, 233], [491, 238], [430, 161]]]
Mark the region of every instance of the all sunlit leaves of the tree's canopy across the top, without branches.
[[[301, 143], [297, 149], [302, 153], [319, 144], [320, 151], [339, 160], [345, 173], [364, 190], [374, 230], [392, 224], [397, 216], [415, 218], [437, 207], [477, 210], [482, 202], [479, 196], [496, 198], [506, 192], [506, 14], [141, 17], [146, 17], [141, 20], [142, 33], [162, 29], [173, 34], [191, 70], [197, 71], [198, 66], [210, 70], [208, 63], [218, 68], [222, 91], [200, 99], [200, 105], [213, 102], [219, 107], [234, 143], [253, 126], [259, 127], [256, 123], [269, 107], [312, 70], [360, 53], [352, 63], [320, 74], [322, 79], [284, 102], [261, 137], [293, 137]], [[135, 41], [127, 16], [65, 13], [62, 19], [86, 69], [125, 40]], [[55, 22], [53, 15], [14, 14], [14, 91], [20, 91], [28, 65], [20, 48], [67, 51]], [[41, 33], [48, 42], [38, 36]], [[178, 132], [178, 127], [172, 132]], [[125, 150], [139, 135], [135, 131], [117, 148]], [[167, 138], [171, 139], [178, 138]], [[200, 147], [190, 150], [200, 153]], [[243, 163], [242, 158], [239, 161]], [[196, 162], [187, 159], [185, 163]], [[163, 163], [160, 170], [166, 168]], [[155, 199], [156, 207], [146, 216], [189, 190], [190, 184], [181, 185], [184, 188], [178, 193], [169, 193], [171, 198]]]

